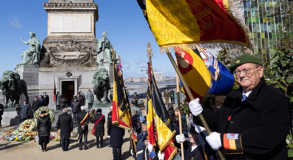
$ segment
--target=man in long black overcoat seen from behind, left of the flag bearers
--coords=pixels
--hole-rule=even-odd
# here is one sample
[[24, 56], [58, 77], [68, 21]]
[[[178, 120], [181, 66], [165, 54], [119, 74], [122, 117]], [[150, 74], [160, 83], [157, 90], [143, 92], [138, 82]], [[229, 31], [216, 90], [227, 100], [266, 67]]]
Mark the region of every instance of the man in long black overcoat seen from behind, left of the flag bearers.
[[[110, 116], [109, 116], [110, 115]], [[110, 138], [110, 145], [113, 148], [113, 160], [121, 160], [123, 137], [125, 129], [112, 125], [112, 111], [108, 113], [108, 138]]]

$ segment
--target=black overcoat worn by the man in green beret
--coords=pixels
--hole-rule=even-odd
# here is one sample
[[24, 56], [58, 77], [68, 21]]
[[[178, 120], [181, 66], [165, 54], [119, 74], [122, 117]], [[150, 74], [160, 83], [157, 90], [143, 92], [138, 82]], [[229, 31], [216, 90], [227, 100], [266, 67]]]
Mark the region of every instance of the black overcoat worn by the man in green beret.
[[[240, 88], [228, 94], [217, 111], [202, 112], [210, 129], [221, 133], [222, 147], [224, 133], [241, 134], [244, 153], [226, 154], [226, 159], [288, 159], [285, 138], [291, 128], [291, 109], [287, 97], [263, 78], [241, 103], [242, 92]], [[200, 124], [197, 116], [193, 121]]]

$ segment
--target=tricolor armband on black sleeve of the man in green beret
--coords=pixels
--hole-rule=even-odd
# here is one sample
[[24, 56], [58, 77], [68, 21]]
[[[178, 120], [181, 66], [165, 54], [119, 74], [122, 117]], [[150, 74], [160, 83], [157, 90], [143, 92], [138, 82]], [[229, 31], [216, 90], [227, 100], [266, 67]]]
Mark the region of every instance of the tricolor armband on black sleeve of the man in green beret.
[[243, 153], [241, 134], [224, 133], [223, 141], [226, 154]]

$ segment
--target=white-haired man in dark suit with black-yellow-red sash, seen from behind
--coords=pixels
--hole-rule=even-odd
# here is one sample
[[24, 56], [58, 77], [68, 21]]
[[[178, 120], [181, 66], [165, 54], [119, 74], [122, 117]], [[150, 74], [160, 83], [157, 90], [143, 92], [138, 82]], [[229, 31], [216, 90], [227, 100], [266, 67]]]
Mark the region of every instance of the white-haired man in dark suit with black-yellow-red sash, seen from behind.
[[87, 150], [88, 140], [88, 122], [90, 121], [90, 114], [86, 112], [86, 106], [81, 106], [81, 112], [76, 114], [76, 123], [78, 125], [77, 132], [81, 134], [79, 140], [79, 150], [82, 150], [82, 135], [84, 135], [84, 150]]

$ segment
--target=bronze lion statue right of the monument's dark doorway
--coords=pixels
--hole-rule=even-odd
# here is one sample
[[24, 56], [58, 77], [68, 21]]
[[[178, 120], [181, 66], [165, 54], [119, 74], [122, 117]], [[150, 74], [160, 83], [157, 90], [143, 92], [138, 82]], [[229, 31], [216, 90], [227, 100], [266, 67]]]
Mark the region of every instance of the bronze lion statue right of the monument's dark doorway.
[[101, 103], [104, 97], [103, 103], [108, 104], [108, 94], [111, 89], [110, 78], [106, 68], [99, 68], [93, 74], [93, 94], [96, 95], [96, 102]]

